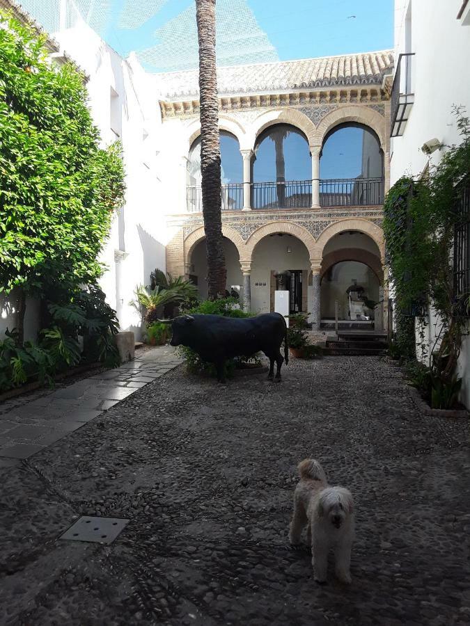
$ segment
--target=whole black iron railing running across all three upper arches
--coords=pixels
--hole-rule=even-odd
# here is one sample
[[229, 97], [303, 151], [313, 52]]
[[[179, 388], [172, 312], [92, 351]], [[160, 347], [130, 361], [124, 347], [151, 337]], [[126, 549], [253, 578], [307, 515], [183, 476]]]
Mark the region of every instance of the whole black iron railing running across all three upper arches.
[[[320, 207], [367, 207], [384, 202], [383, 178], [322, 179]], [[312, 206], [312, 181], [290, 180], [282, 183], [251, 183], [252, 209], [308, 209]], [[187, 210], [201, 213], [201, 185], [187, 186]], [[243, 183], [221, 186], [222, 211], [243, 208]]]

